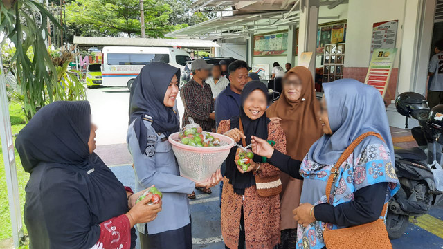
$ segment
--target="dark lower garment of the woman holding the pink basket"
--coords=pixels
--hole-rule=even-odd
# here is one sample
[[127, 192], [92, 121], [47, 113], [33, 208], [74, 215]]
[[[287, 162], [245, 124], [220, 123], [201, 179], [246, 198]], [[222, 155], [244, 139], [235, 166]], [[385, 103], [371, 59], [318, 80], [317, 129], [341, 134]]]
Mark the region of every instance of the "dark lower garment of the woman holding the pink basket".
[[183, 228], [158, 234], [138, 233], [142, 249], [192, 249], [191, 223]]

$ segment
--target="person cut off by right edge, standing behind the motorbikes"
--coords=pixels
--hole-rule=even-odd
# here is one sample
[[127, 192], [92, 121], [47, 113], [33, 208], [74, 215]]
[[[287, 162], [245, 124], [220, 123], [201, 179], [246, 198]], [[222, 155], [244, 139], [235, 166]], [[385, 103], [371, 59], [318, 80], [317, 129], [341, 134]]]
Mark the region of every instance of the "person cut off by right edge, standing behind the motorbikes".
[[430, 108], [443, 104], [443, 39], [435, 44], [428, 70], [428, 105]]

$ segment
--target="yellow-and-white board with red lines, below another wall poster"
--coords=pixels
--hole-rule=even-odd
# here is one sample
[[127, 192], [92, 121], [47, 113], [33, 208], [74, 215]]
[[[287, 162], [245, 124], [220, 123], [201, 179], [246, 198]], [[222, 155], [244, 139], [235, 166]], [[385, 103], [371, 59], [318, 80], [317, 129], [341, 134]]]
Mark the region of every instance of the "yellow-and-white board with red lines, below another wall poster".
[[374, 86], [384, 98], [386, 88], [394, 65], [397, 48], [377, 48], [372, 53], [371, 63], [366, 74], [365, 84]]

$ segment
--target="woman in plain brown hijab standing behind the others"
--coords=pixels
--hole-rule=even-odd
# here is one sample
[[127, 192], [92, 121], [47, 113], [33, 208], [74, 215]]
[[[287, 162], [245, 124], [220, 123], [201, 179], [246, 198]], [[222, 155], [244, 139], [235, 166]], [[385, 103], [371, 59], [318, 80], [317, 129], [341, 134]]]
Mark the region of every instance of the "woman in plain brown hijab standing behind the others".
[[[280, 121], [286, 134], [287, 154], [302, 160], [309, 147], [323, 135], [316, 112], [320, 108], [314, 90], [314, 80], [309, 69], [303, 66], [291, 68], [283, 79], [283, 92], [266, 111], [273, 121]], [[276, 248], [296, 248], [297, 223], [292, 210], [300, 204], [302, 181], [280, 172], [283, 191], [280, 194], [281, 243]]]

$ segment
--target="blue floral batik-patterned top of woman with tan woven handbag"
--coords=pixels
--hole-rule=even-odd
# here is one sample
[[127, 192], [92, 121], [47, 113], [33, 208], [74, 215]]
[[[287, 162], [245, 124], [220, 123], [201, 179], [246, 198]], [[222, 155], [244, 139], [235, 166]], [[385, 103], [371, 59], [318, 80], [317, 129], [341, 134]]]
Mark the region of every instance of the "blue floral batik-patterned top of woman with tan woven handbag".
[[[326, 203], [327, 178], [334, 165], [319, 165], [305, 157], [300, 167], [300, 175], [305, 178], [300, 203], [318, 205]], [[388, 183], [385, 203], [399, 190], [400, 184], [390, 159], [386, 145], [368, 145], [363, 152], [354, 157], [351, 154], [340, 166], [340, 172], [333, 184], [334, 199], [329, 204], [334, 206], [354, 200], [354, 192], [376, 183]], [[383, 217], [384, 218], [384, 217]], [[320, 249], [325, 246], [323, 230], [338, 229], [337, 225], [316, 221], [306, 228], [298, 224], [297, 247]]]

